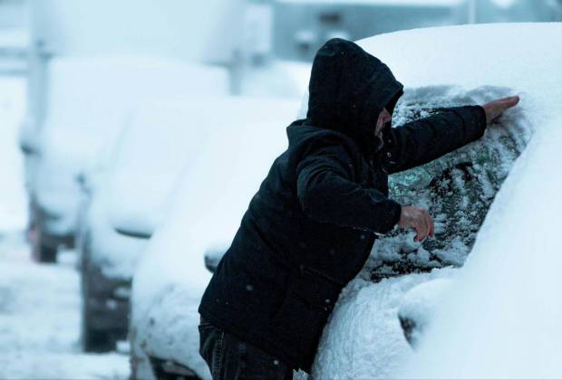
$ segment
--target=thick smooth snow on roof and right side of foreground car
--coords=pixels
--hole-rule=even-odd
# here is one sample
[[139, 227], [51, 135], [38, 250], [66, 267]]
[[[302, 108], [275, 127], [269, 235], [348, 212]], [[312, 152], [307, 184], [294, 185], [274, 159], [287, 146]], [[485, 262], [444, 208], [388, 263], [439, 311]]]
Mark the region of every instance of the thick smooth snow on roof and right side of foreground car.
[[361, 44], [406, 87], [509, 87], [534, 129], [404, 375], [562, 377], [562, 24], [431, 28]]

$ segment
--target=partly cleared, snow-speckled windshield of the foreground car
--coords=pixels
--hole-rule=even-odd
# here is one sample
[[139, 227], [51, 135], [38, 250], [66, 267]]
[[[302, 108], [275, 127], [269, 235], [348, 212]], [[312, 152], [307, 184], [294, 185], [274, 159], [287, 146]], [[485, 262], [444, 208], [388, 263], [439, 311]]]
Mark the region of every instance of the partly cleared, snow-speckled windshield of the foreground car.
[[[430, 116], [436, 109], [483, 104], [513, 93], [501, 88], [470, 92], [454, 87], [414, 89], [396, 106], [392, 125]], [[403, 273], [461, 266], [466, 260], [489, 206], [509, 169], [529, 139], [520, 111], [492, 123], [483, 138], [424, 166], [389, 178], [390, 196], [400, 204], [426, 208], [434, 219], [435, 238], [413, 242], [413, 232], [395, 230], [375, 242], [367, 273], [378, 281]]]

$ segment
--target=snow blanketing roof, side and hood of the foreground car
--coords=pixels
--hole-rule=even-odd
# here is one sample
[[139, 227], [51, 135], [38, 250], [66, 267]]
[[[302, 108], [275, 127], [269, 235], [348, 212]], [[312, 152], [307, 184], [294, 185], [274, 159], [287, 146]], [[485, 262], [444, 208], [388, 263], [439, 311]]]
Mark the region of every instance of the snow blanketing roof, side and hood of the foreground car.
[[[456, 285], [449, 293], [451, 297], [443, 299], [420, 353], [414, 356], [407, 347], [396, 318], [407, 289], [391, 284], [429, 280], [430, 276], [453, 270], [438, 269], [372, 283], [367, 280], [371, 277], [369, 265], [380, 252], [375, 249], [365, 270], [344, 290], [325, 328], [315, 375], [562, 377], [562, 278], [558, 273], [562, 245], [557, 238], [562, 227], [557, 218], [562, 210], [562, 176], [557, 176], [562, 144], [561, 42], [560, 24], [431, 28], [363, 41], [363, 47], [387, 63], [407, 88], [452, 84], [462, 89], [514, 89], [521, 102], [500, 119], [501, 124], [511, 130], [513, 121], [523, 122], [515, 125], [519, 139], [514, 141], [526, 141], [528, 131], [531, 133], [527, 147], [515, 160], [491, 204], [468, 261], [462, 269], [454, 270], [460, 272]], [[481, 91], [481, 95], [485, 94]], [[493, 129], [476, 144], [489, 142]], [[486, 159], [493, 165], [496, 153], [493, 149], [489, 153]], [[497, 154], [508, 165], [513, 161], [513, 152], [498, 150]], [[506, 173], [505, 167], [492, 168], [499, 179], [501, 173]], [[476, 179], [480, 194], [486, 195], [485, 183]], [[456, 185], [451, 191], [460, 193], [463, 188]], [[473, 201], [468, 201], [467, 211], [472, 211], [470, 202]], [[469, 224], [465, 226], [476, 226], [470, 223], [470, 213], [459, 216], [467, 218]], [[468, 252], [463, 245], [469, 247], [464, 242], [451, 241], [444, 253], [452, 251], [450, 258], [461, 261]], [[459, 247], [458, 252], [454, 252], [455, 247]], [[426, 259], [428, 256], [422, 252], [422, 261]]]

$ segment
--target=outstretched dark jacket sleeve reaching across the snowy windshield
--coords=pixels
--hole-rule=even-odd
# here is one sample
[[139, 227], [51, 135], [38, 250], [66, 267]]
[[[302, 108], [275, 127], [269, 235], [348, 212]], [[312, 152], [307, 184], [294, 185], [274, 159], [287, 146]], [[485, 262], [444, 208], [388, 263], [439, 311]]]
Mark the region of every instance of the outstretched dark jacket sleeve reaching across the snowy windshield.
[[429, 118], [392, 128], [389, 174], [426, 164], [482, 137], [486, 113], [480, 106], [441, 109]]

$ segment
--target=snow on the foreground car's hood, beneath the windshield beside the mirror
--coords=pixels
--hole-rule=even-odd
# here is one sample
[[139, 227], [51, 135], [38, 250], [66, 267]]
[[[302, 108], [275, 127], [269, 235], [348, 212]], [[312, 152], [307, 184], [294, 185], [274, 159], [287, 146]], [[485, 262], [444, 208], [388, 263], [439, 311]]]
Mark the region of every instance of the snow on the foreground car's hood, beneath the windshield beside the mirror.
[[423, 281], [454, 270], [393, 277], [373, 284], [357, 278], [344, 289], [315, 358], [315, 378], [392, 378], [412, 355], [397, 310], [402, 296]]

